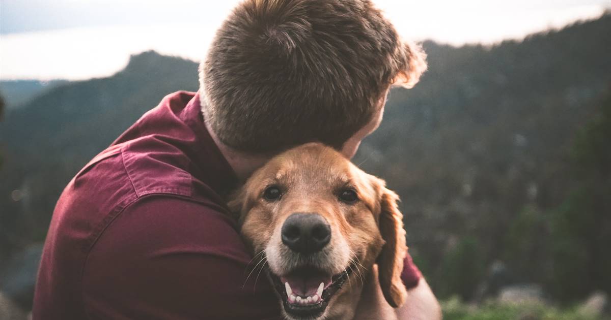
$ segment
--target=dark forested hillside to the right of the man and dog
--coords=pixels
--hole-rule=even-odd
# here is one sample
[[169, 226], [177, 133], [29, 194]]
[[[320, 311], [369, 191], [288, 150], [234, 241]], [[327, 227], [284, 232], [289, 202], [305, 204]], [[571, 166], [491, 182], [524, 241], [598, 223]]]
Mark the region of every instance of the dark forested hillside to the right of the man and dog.
[[610, 94], [610, 35], [606, 15], [493, 48], [425, 43], [428, 73], [392, 92], [355, 162], [401, 195], [412, 253], [441, 296], [473, 297], [494, 260], [551, 286], [558, 268], [583, 272], [548, 256], [550, 224], [576, 185], [576, 132]]

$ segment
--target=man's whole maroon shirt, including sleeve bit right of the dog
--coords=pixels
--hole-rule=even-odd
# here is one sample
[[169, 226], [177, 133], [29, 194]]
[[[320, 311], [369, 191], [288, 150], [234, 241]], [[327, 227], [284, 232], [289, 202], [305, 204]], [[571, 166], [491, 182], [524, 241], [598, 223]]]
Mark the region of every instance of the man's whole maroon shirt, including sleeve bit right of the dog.
[[[252, 255], [223, 201], [236, 186], [199, 96], [166, 96], [60, 196], [33, 319], [279, 318], [266, 277], [246, 281]], [[419, 278], [406, 258], [404, 283]]]

